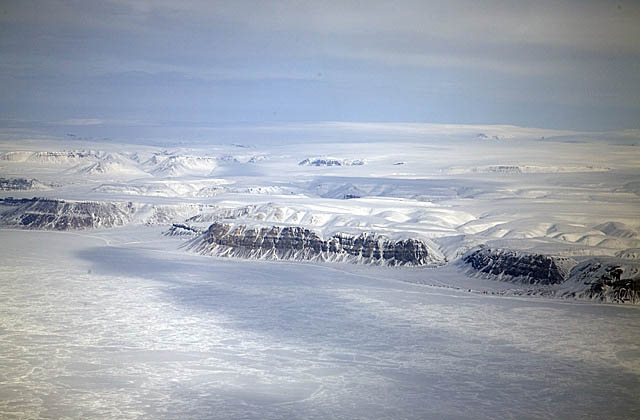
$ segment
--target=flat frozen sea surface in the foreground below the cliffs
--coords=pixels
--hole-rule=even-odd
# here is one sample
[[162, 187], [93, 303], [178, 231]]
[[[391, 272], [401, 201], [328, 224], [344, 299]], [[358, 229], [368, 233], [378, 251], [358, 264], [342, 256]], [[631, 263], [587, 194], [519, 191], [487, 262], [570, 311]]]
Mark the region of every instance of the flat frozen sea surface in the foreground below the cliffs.
[[147, 236], [0, 230], [0, 418], [640, 418], [640, 308]]

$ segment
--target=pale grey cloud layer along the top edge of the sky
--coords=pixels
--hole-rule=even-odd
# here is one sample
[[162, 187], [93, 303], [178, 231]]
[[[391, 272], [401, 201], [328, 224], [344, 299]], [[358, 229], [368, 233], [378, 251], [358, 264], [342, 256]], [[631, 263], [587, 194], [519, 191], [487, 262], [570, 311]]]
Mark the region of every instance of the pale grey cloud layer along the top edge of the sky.
[[[117, 3], [122, 3], [118, 1]], [[639, 53], [640, 5], [633, 1], [238, 0], [126, 2], [144, 15], [224, 19], [261, 31], [401, 34], [416, 41], [564, 46]]]

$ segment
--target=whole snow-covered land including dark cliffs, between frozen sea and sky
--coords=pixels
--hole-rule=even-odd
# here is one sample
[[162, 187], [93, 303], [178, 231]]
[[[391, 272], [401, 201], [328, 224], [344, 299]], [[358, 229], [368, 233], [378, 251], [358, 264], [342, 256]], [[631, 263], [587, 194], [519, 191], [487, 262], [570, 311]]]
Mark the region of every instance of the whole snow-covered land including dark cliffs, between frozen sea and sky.
[[637, 147], [582, 137], [541, 147], [534, 131], [498, 131], [510, 140], [9, 145], [0, 148], [0, 224], [162, 225], [162, 240], [188, 239], [205, 255], [446, 264], [458, 283], [635, 302]]

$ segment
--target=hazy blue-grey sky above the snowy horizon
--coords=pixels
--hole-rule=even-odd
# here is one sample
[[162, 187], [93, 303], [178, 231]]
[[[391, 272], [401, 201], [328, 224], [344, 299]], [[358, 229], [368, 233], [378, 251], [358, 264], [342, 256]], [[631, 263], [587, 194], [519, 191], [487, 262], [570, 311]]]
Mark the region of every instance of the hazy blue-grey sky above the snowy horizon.
[[0, 0], [0, 121], [640, 128], [640, 3]]

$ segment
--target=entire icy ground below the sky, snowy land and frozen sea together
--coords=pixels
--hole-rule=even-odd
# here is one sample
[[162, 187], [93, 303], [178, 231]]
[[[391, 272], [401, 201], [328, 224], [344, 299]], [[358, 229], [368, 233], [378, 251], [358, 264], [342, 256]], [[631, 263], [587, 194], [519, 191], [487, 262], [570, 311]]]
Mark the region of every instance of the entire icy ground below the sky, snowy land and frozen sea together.
[[640, 418], [640, 133], [312, 129], [3, 135], [0, 418]]

